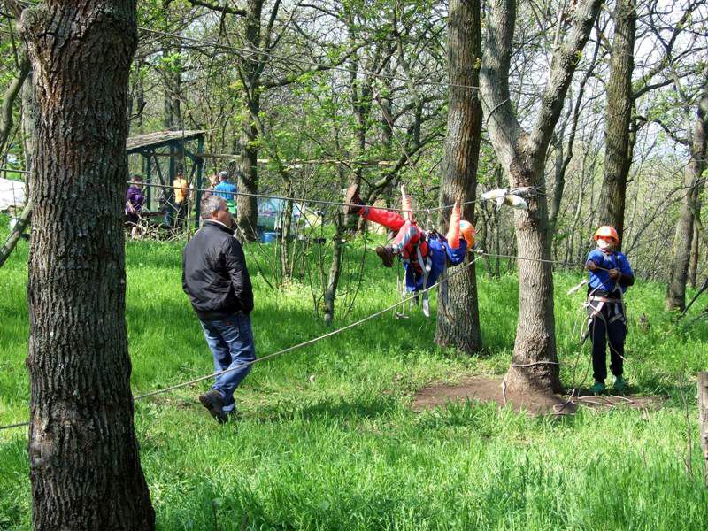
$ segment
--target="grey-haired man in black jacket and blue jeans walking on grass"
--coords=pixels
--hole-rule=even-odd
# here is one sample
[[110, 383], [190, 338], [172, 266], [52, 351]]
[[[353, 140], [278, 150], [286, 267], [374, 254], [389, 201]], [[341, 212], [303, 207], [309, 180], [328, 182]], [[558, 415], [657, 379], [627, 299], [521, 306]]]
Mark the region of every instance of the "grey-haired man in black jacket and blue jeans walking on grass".
[[234, 237], [234, 218], [219, 196], [201, 204], [204, 223], [182, 255], [182, 289], [189, 295], [214, 355], [216, 377], [199, 402], [223, 424], [235, 408], [234, 391], [256, 359], [250, 311], [253, 289], [243, 249]]

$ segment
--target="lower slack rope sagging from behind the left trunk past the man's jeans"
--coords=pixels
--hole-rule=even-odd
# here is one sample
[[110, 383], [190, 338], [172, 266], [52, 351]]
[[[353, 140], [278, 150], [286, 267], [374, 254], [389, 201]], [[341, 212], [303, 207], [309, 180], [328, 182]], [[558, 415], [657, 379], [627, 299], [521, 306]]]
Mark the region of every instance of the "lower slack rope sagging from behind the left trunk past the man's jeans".
[[[441, 283], [443, 283], [443, 281], [447, 281], [450, 278], [454, 277], [455, 275], [457, 275], [463, 271], [466, 271], [467, 268], [472, 266], [480, 258], [481, 258], [481, 255], [476, 258], [473, 258], [472, 260], [470, 260], [470, 262], [466, 266], [460, 267], [457, 270], [453, 271], [452, 273], [444, 274], [443, 278], [441, 280], [435, 282], [435, 284], [433, 284], [432, 286], [429, 286], [426, 289], [420, 289], [419, 291], [415, 292], [412, 296], [408, 296], [407, 298], [405, 298], [402, 301], [396, 301], [396, 304], [391, 304], [390, 306], [387, 306], [383, 310], [379, 310], [378, 312], [374, 312], [371, 315], [367, 315], [365, 318], [359, 319], [358, 321], [354, 321], [353, 323], [350, 323], [349, 325], [346, 325], [345, 327], [337, 328], [336, 330], [333, 330], [332, 332], [328, 332], [327, 334], [319, 335], [318, 337], [314, 337], [312, 339], [308, 339], [307, 341], [297, 343], [296, 345], [292, 345], [292, 346], [287, 347], [285, 349], [278, 350], [276, 352], [268, 354], [267, 356], [264, 356], [263, 358], [257, 358], [257, 359], [254, 359], [253, 361], [242, 363], [241, 365], [238, 365], [235, 367], [229, 367], [223, 371], [218, 371], [215, 373], [206, 374], [205, 376], [200, 376], [199, 378], [195, 378], [194, 380], [183, 381], [181, 383], [175, 384], [173, 386], [170, 386], [170, 387], [167, 387], [164, 389], [156, 389], [154, 391], [150, 391], [149, 393], [144, 393], [142, 395], [135, 396], [135, 398], [133, 400], [134, 401], [143, 400], [144, 398], [148, 398], [150, 396], [162, 395], [164, 393], [169, 393], [169, 392], [176, 390], [176, 389], [189, 387], [191, 385], [199, 383], [200, 381], [209, 380], [211, 378], [215, 378], [216, 376], [220, 376], [221, 374], [231, 373], [231, 372], [236, 371], [238, 369], [242, 369], [245, 366], [251, 366], [251, 365], [254, 365], [258, 362], [266, 361], [266, 359], [275, 358], [277, 356], [281, 356], [282, 354], [286, 354], [286, 353], [291, 352], [293, 350], [302, 349], [303, 347], [312, 345], [313, 343], [322, 341], [324, 339], [327, 339], [328, 337], [332, 337], [333, 335], [341, 334], [342, 332], [350, 330], [351, 328], [358, 327], [359, 325], [366, 323], [366, 321], [375, 319], [375, 318], [383, 315], [386, 312], [391, 312], [392, 310], [396, 310], [396, 307], [399, 304], [403, 304], [403, 303], [407, 303], [409, 301], [412, 301], [414, 298], [418, 297], [419, 295], [426, 293], [427, 291], [430, 291], [431, 289], [437, 288], [437, 286], [440, 285]], [[2, 431], [4, 429], [11, 429], [13, 427], [23, 427], [23, 426], [29, 426], [29, 422], [19, 422], [17, 424], [9, 424], [7, 426], [0, 426], [0, 431]]]

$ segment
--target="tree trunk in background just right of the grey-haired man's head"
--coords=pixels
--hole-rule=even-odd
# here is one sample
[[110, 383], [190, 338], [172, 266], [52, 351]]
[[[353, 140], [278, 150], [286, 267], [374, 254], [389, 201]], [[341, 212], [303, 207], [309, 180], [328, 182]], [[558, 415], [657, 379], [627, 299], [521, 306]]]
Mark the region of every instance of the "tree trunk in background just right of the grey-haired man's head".
[[[263, 0], [248, 0], [246, 2], [245, 41], [252, 58], [242, 58], [240, 72], [242, 75], [242, 99], [244, 104], [241, 123], [241, 140], [239, 149], [238, 189], [248, 194], [258, 193], [258, 127], [255, 124], [260, 112], [260, 74], [262, 65], [258, 62], [260, 50], [260, 28]], [[258, 201], [254, 196], [237, 196], [236, 216], [238, 227], [247, 240], [258, 239]]]

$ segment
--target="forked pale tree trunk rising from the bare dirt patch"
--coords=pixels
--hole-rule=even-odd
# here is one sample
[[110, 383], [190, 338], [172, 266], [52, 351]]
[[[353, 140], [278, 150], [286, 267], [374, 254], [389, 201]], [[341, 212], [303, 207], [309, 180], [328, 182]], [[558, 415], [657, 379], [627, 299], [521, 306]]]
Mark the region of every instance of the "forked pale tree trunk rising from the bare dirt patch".
[[[489, 138], [512, 187], [544, 183], [546, 152], [573, 73], [588, 41], [601, 0], [580, 0], [568, 18], [565, 42], [554, 51], [549, 81], [540, 97], [535, 126], [527, 133], [517, 119], [509, 93], [509, 68], [516, 23], [516, 2], [489, 3], [487, 39], [480, 73], [481, 98], [486, 106]], [[550, 258], [548, 208], [543, 195], [528, 199], [527, 212], [514, 216], [519, 256]], [[560, 391], [553, 314], [553, 277], [550, 263], [519, 259], [519, 323], [507, 389]]]

